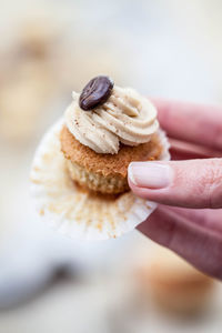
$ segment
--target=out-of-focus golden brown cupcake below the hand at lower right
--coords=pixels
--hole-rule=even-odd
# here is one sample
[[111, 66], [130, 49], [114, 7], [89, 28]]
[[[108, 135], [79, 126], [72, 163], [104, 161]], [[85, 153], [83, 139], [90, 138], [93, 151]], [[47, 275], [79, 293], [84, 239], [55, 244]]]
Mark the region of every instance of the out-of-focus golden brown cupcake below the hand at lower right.
[[208, 309], [214, 289], [213, 279], [160, 246], [143, 261], [137, 278], [145, 296], [171, 314], [201, 313]]

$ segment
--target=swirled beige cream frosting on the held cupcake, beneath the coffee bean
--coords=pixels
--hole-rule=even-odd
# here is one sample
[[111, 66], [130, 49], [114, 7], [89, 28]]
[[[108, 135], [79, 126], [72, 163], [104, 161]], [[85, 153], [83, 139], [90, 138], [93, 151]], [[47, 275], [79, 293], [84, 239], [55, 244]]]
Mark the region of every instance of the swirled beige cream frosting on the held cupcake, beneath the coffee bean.
[[74, 138], [97, 153], [117, 154], [120, 143], [138, 145], [148, 142], [158, 130], [157, 110], [131, 88], [114, 87], [105, 103], [83, 111], [79, 93], [72, 93], [65, 125]]

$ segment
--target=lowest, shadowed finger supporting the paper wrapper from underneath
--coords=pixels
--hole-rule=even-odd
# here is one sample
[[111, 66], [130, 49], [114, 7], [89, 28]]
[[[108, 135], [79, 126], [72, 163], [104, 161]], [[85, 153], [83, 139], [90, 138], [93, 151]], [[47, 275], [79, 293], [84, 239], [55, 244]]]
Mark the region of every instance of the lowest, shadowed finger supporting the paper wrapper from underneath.
[[138, 226], [154, 242], [176, 252], [199, 270], [222, 279], [222, 239], [218, 233], [192, 224], [184, 216], [158, 208]]

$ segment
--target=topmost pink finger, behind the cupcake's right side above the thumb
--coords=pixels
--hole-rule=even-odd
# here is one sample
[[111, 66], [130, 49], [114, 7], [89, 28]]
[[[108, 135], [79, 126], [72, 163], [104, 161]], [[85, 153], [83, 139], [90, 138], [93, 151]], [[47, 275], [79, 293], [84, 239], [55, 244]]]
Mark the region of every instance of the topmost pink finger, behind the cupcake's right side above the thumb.
[[222, 150], [222, 107], [152, 100], [171, 138]]

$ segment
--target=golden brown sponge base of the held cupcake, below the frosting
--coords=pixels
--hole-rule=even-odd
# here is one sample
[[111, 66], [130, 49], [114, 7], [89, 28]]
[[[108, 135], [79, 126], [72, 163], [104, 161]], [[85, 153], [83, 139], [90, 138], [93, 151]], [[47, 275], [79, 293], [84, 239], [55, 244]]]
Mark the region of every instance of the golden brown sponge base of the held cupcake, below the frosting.
[[121, 144], [114, 155], [95, 153], [81, 144], [65, 125], [60, 140], [72, 180], [90, 190], [112, 194], [129, 189], [127, 175], [130, 162], [157, 160], [162, 151], [157, 134], [149, 142], [137, 147]]

